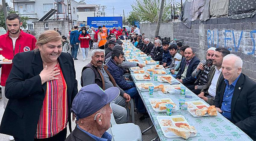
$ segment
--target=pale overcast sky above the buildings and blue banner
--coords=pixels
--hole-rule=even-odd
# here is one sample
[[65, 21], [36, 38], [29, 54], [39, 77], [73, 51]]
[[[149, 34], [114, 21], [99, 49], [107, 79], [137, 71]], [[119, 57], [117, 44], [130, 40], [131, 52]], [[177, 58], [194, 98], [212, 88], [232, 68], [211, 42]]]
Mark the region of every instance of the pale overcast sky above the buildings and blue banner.
[[[2, 0], [0, 0], [2, 3]], [[79, 2], [80, 0], [75, 0], [77, 2]], [[125, 17], [127, 16], [127, 14], [132, 11], [132, 7], [131, 4], [134, 4], [136, 0], [85, 0], [86, 4], [101, 4], [101, 5], [106, 5], [107, 8], [105, 9], [105, 13], [106, 16], [113, 16], [113, 6], [115, 8], [114, 10], [114, 16], [123, 16], [123, 10], [124, 10], [124, 15]], [[180, 2], [180, 0], [175, 0], [177, 2]], [[184, 2], [185, 0], [183, 0]], [[6, 0], [6, 2], [8, 2], [9, 4], [12, 3], [10, 2], [10, 0]]]

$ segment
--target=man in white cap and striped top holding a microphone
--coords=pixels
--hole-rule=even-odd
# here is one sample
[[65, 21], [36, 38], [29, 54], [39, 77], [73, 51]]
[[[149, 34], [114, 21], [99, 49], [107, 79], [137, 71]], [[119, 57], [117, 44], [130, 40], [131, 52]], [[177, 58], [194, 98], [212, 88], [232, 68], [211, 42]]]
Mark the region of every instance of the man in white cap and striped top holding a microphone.
[[203, 87], [207, 84], [207, 76], [212, 66], [211, 58], [214, 55], [215, 49], [216, 48], [214, 47], [209, 48], [206, 53], [206, 60], [201, 60], [197, 68], [194, 70], [194, 72], [192, 72], [192, 77], [195, 77], [198, 71], [201, 70], [201, 73], [197, 76], [197, 80], [195, 81], [194, 85], [188, 86], [189, 90], [191, 90], [196, 95], [198, 95]]

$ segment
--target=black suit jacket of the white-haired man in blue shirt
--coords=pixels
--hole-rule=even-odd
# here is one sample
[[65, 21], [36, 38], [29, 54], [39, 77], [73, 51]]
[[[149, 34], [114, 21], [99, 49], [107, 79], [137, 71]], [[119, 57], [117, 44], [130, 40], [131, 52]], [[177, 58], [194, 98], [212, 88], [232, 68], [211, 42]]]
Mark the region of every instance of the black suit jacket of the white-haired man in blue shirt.
[[[220, 78], [214, 105], [221, 108], [226, 83]], [[241, 73], [231, 100], [231, 122], [256, 140], [256, 83]]]

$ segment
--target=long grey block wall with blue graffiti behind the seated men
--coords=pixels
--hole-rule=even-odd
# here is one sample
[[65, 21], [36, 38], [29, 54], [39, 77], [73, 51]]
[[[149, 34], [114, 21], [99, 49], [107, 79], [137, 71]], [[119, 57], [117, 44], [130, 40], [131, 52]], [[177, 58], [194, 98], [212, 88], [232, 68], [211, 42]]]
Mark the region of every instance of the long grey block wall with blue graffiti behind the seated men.
[[[153, 37], [156, 23], [140, 24], [141, 33]], [[170, 28], [173, 29], [170, 29]], [[159, 35], [173, 34], [171, 39], [183, 39], [184, 44], [194, 48], [196, 56], [205, 58], [210, 47], [225, 47], [231, 53], [238, 55], [243, 60], [242, 72], [256, 81], [256, 16], [244, 19], [216, 18], [207, 22], [193, 21], [191, 28], [187, 28], [182, 22], [161, 24]], [[150, 31], [148, 32], [149, 29]], [[154, 32], [151, 32], [154, 31]], [[170, 33], [173, 31], [173, 33]], [[168, 34], [166, 32], [169, 32]]]

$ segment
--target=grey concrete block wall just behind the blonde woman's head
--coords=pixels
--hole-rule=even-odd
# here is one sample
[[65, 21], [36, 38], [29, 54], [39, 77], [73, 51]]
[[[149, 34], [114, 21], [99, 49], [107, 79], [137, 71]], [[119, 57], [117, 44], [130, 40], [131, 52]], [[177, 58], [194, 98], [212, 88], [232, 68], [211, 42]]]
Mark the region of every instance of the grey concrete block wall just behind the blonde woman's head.
[[[49, 28], [45, 28], [45, 22], [48, 22]], [[68, 35], [68, 22], [67, 21], [45, 21], [45, 22], [33, 22], [34, 23], [34, 36], [38, 38], [46, 30], [53, 30], [53, 28], [59, 28], [61, 34]]]

